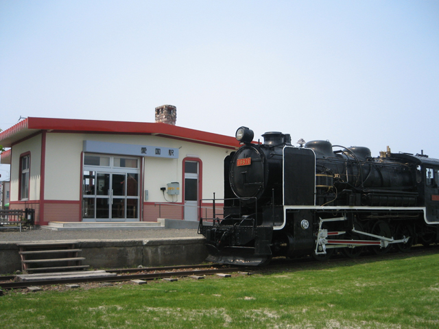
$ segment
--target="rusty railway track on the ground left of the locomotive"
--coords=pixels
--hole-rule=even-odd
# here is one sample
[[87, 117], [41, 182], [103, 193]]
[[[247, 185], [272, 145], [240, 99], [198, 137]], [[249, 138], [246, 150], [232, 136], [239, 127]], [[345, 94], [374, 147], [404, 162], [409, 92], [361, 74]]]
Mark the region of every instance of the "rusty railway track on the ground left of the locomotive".
[[[155, 280], [173, 277], [205, 276], [215, 273], [231, 273], [245, 271], [243, 267], [226, 267], [223, 265], [192, 265], [178, 267], [147, 267], [141, 269], [109, 269], [106, 273], [117, 273], [117, 276], [93, 276], [87, 278], [57, 278], [51, 280], [32, 280], [17, 282], [16, 276], [0, 277], [1, 289], [21, 289], [31, 286], [52, 284], [78, 284], [89, 282], [123, 282], [130, 280]], [[68, 272], [67, 272], [68, 273]], [[86, 271], [84, 271], [86, 273]]]

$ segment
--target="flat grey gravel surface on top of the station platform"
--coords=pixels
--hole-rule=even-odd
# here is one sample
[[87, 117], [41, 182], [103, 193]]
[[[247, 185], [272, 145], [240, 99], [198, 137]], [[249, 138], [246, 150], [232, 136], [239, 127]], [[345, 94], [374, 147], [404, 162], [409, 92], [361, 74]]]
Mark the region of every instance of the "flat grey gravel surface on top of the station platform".
[[164, 230], [71, 230], [53, 231], [38, 228], [36, 230], [0, 230], [1, 242], [51, 241], [51, 240], [129, 240], [129, 239], [161, 239], [186, 238], [202, 236], [197, 230], [164, 229]]

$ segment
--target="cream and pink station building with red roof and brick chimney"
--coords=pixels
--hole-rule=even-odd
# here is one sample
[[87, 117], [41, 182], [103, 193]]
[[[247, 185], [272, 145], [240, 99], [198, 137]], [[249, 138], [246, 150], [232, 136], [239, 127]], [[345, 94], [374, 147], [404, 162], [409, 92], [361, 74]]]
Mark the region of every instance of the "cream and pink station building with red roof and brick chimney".
[[[197, 221], [198, 200], [223, 197], [234, 137], [178, 127], [176, 108], [155, 123], [29, 117], [0, 133], [10, 147], [10, 209], [50, 221]], [[209, 216], [212, 202], [202, 202]], [[219, 202], [217, 206], [222, 206]]]

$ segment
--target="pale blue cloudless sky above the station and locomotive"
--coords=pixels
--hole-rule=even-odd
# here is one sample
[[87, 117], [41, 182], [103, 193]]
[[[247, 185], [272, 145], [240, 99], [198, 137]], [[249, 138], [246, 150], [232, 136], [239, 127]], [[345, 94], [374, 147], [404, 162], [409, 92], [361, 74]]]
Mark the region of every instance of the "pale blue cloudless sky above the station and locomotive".
[[439, 1], [0, 1], [1, 129], [163, 104], [182, 127], [439, 158]]

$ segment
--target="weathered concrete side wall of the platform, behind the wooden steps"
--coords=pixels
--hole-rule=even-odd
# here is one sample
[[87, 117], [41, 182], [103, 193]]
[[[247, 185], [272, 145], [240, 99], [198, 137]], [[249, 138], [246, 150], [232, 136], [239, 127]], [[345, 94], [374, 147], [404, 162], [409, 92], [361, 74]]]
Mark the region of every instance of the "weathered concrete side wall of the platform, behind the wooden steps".
[[[29, 241], [31, 242], [31, 241]], [[38, 241], [42, 243], [43, 241]], [[200, 264], [207, 257], [204, 238], [133, 239], [133, 240], [75, 240], [82, 249], [83, 265], [93, 269], [172, 266]], [[0, 274], [21, 270], [19, 247], [16, 243], [0, 243]]]

